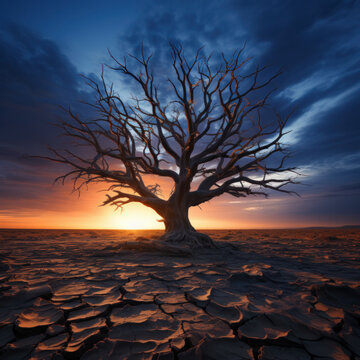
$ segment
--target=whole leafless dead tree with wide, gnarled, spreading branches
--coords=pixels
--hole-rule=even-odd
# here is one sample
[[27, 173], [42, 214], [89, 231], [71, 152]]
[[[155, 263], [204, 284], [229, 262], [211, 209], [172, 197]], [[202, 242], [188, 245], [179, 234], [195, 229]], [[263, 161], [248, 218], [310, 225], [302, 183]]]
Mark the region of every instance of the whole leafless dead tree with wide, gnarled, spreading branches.
[[[97, 94], [88, 103], [96, 116], [85, 121], [69, 109], [70, 117], [61, 123], [65, 134], [87, 150], [51, 149], [53, 155], [46, 158], [70, 166], [57, 180], [72, 178], [78, 190], [106, 183], [103, 205], [122, 208], [135, 202], [155, 210], [165, 224], [162, 240], [212, 246], [191, 225], [191, 206], [223, 194], [289, 193], [283, 187], [294, 183], [294, 168], [284, 166], [288, 154], [280, 142], [287, 118], [263, 118], [272, 92], [264, 90], [279, 74], [260, 79], [265, 67], [244, 74], [243, 49], [229, 59], [223, 55], [221, 64], [213, 66], [201, 50], [190, 62], [181, 47], [170, 48], [173, 76], [166, 94], [156, 84], [151, 56], [143, 51], [130, 56], [141, 71], [132, 70], [127, 58], [121, 62], [112, 56], [115, 66], [110, 68], [133, 81], [141, 96], [125, 101], [103, 74], [99, 82], [87, 79]], [[278, 163], [267, 165], [274, 156]], [[169, 197], [160, 195], [158, 184], [147, 184], [146, 175], [172, 181]]]

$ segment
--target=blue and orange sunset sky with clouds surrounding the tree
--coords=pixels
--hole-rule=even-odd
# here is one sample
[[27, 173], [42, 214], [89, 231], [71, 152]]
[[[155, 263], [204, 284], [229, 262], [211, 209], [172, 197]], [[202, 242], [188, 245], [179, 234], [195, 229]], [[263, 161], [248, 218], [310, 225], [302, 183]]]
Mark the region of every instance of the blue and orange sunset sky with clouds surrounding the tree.
[[360, 225], [359, 24], [355, 0], [1, 1], [0, 228], [162, 228], [140, 205], [99, 207], [99, 187], [78, 197], [53, 185], [63, 168], [28, 155], [61, 147], [58, 105], [91, 99], [80, 74], [95, 78], [107, 49], [121, 57], [143, 42], [162, 58], [169, 41], [190, 53], [246, 42], [256, 63], [282, 69], [272, 102], [294, 109], [285, 141], [304, 174], [301, 197], [223, 196], [191, 209], [195, 227]]

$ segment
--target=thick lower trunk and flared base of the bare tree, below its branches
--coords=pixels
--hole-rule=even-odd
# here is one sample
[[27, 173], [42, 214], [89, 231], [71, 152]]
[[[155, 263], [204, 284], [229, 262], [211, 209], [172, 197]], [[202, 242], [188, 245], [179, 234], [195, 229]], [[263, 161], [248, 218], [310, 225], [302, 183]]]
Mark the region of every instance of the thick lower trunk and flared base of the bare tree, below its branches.
[[169, 205], [162, 216], [165, 223], [165, 234], [161, 237], [163, 241], [192, 249], [215, 247], [210, 236], [193, 228], [188, 216], [188, 207]]

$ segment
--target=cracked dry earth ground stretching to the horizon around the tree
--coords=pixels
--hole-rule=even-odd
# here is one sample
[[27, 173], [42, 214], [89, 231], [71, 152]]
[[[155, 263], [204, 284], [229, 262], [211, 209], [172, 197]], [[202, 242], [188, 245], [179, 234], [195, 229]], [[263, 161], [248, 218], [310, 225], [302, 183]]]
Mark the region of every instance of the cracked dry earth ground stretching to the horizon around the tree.
[[0, 358], [360, 359], [360, 230], [160, 233], [0, 230]]

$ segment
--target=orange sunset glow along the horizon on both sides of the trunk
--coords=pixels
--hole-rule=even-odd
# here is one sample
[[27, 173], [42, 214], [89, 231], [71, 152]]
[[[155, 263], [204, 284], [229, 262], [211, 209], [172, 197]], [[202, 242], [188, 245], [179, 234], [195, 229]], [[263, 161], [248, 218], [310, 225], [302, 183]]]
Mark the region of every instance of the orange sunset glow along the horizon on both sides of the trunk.
[[[111, 206], [99, 206], [104, 200], [100, 186], [84, 191], [81, 197], [71, 194], [70, 185], [51, 186], [44, 196], [20, 199], [0, 210], [0, 228], [18, 229], [115, 229], [162, 230], [163, 222], [152, 209], [133, 203], [123, 211]], [[46, 190], [46, 191], [45, 191]], [[166, 189], [168, 190], [168, 189]], [[298, 218], [289, 215], [289, 209], [298, 206], [299, 199], [234, 200], [222, 197], [190, 209], [189, 217], [196, 229], [279, 229], [307, 226], [339, 226], [321, 219]], [[284, 215], [286, 214], [286, 215]]]

